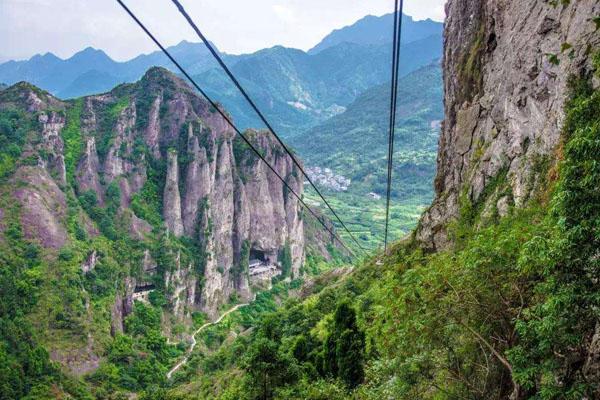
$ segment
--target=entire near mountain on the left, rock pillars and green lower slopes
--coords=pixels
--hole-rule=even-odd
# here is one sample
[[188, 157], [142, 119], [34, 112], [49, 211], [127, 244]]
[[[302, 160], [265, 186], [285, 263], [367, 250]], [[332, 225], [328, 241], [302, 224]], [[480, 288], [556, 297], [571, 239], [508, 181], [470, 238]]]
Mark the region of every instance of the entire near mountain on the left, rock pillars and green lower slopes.
[[[302, 195], [273, 137], [246, 135]], [[0, 369], [9, 360], [17, 374], [3, 398], [24, 398], [25, 376], [59, 376], [50, 360], [69, 374], [96, 371], [123, 340], [140, 342], [137, 361], [117, 363], [135, 377], [122, 385], [164, 380], [181, 354], [167, 338], [187, 340], [198, 318], [300, 278], [308, 259], [341, 254], [314, 221], [305, 235], [289, 188], [162, 68], [71, 101], [25, 82], [2, 90], [0, 143]], [[142, 333], [136, 318], [159, 324]], [[22, 346], [5, 350], [7, 340]], [[27, 369], [32, 362], [39, 369]]]

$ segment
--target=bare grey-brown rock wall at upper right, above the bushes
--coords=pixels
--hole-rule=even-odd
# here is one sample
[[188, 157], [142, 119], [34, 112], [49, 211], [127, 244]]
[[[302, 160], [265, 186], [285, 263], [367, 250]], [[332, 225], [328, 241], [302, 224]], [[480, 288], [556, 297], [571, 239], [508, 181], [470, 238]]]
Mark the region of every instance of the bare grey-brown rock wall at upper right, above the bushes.
[[445, 227], [463, 202], [499, 214], [522, 205], [555, 160], [567, 81], [591, 69], [600, 45], [591, 19], [600, 4], [551, 3], [448, 1], [436, 197], [416, 235], [425, 247], [448, 246]]

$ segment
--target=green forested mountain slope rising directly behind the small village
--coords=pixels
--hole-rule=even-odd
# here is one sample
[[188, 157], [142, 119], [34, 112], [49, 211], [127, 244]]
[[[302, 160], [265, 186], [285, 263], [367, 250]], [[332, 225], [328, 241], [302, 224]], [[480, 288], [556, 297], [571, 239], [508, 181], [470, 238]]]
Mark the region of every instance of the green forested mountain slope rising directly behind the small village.
[[[393, 195], [431, 201], [439, 123], [443, 119], [442, 73], [438, 64], [412, 72], [398, 83]], [[374, 86], [345, 112], [290, 138], [309, 165], [328, 167], [352, 179], [351, 188], [385, 194], [389, 83]]]

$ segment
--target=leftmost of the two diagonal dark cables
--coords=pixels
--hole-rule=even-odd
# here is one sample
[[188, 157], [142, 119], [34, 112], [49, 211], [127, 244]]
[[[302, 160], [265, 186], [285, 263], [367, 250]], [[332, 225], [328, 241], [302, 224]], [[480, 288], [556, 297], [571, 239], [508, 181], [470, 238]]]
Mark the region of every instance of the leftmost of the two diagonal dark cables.
[[271, 166], [271, 164], [269, 164], [269, 162], [263, 157], [260, 151], [250, 142], [250, 140], [248, 140], [248, 138], [246, 138], [246, 136], [244, 136], [244, 134], [239, 130], [239, 128], [233, 123], [231, 118], [225, 112], [223, 112], [223, 110], [221, 110], [221, 108], [206, 94], [206, 92], [204, 92], [204, 90], [202, 90], [202, 88], [187, 73], [187, 71], [177, 62], [177, 60], [175, 60], [175, 58], [173, 58], [171, 53], [158, 41], [158, 39], [156, 39], [156, 37], [154, 37], [152, 32], [150, 32], [148, 28], [146, 28], [146, 26], [137, 18], [133, 11], [131, 11], [125, 5], [125, 3], [123, 3], [122, 0], [117, 0], [117, 2], [121, 5], [121, 7], [123, 7], [127, 14], [129, 14], [129, 16], [140, 26], [140, 28], [142, 28], [146, 35], [148, 35], [148, 37], [152, 39], [152, 41], [162, 50], [162, 52], [169, 58], [169, 60], [171, 60], [171, 62], [175, 64], [177, 69], [179, 69], [179, 71], [181, 71], [181, 73], [191, 82], [191, 84], [194, 85], [194, 87], [198, 90], [198, 92], [200, 92], [200, 94], [202, 94], [202, 96], [210, 103], [210, 105], [225, 119], [225, 121], [227, 121], [227, 123], [233, 128], [233, 130], [244, 140], [246, 145], [248, 145], [248, 147], [250, 147], [250, 149], [258, 156], [258, 158], [260, 158], [267, 165], [271, 172], [273, 172], [277, 176], [277, 178], [279, 178], [279, 180], [283, 182], [285, 187], [290, 191], [290, 193], [294, 195], [294, 197], [298, 199], [298, 201], [300, 201], [302, 206], [306, 210], [308, 210], [310, 214], [313, 217], [315, 217], [315, 219], [323, 226], [323, 228], [325, 228], [325, 230], [328, 231], [332, 235], [332, 237], [334, 237], [350, 254], [356, 256], [352, 249], [350, 249], [340, 239], [340, 237], [321, 220], [321, 218], [312, 210], [312, 208], [310, 208], [308, 204], [304, 202], [302, 197], [299, 196], [298, 193], [296, 193], [296, 191], [286, 182], [286, 180]]

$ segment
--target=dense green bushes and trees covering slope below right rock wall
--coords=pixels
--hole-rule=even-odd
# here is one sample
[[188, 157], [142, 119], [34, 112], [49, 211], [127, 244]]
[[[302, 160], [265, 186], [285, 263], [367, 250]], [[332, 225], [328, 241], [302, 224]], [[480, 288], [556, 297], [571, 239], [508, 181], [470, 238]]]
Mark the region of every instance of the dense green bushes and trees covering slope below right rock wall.
[[463, 199], [451, 248], [398, 244], [233, 339], [220, 327], [190, 367], [202, 372], [166, 398], [597, 397], [585, 364], [600, 308], [600, 91], [571, 87], [560, 162], [538, 163], [546, 186], [523, 208], [483, 214], [506, 195], [499, 173], [481, 201]]

